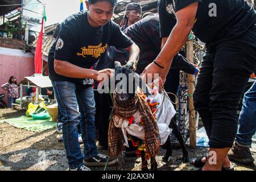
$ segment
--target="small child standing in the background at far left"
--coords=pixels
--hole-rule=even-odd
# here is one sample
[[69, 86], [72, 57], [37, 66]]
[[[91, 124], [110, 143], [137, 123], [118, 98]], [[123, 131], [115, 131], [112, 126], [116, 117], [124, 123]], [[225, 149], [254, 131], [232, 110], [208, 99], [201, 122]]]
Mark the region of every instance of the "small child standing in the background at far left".
[[11, 76], [9, 82], [2, 85], [2, 88], [8, 92], [8, 107], [11, 107], [11, 104], [15, 104], [16, 98], [18, 98], [18, 84], [15, 76]]

